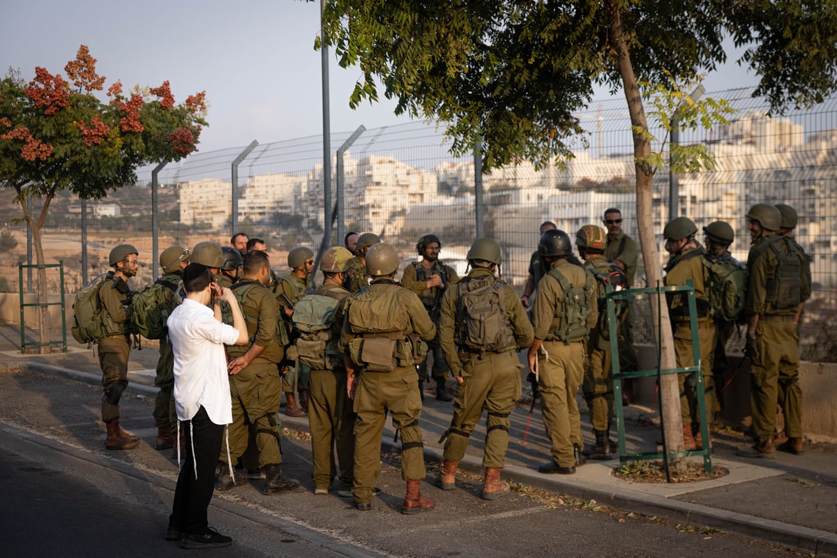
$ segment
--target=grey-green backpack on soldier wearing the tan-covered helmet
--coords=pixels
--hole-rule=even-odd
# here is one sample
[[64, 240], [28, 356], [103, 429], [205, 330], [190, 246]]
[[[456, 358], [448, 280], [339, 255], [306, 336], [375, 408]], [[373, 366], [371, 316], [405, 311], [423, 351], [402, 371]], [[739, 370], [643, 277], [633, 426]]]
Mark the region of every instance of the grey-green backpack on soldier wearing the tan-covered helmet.
[[296, 354], [300, 364], [312, 370], [342, 368], [342, 356], [331, 328], [337, 317], [340, 301], [347, 297], [344, 290], [320, 289], [309, 291], [294, 306], [294, 321], [299, 337]]

